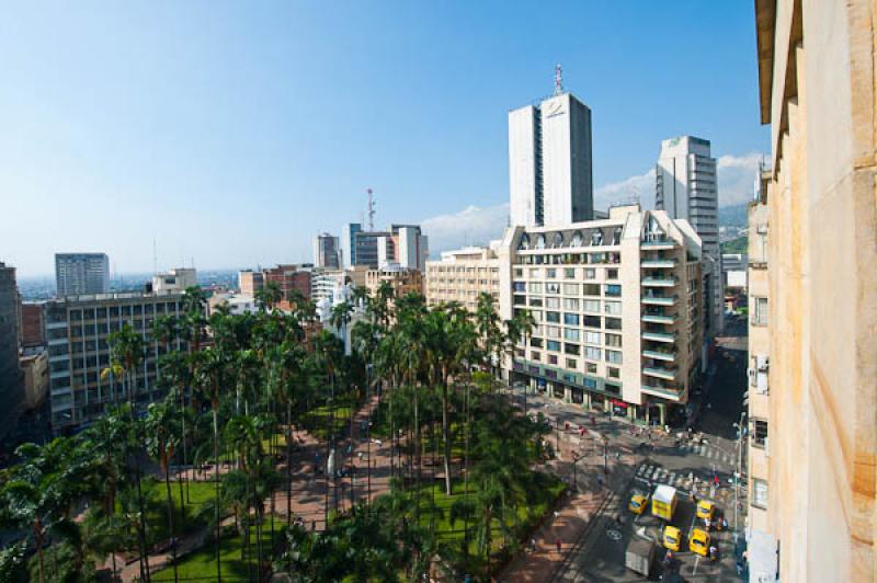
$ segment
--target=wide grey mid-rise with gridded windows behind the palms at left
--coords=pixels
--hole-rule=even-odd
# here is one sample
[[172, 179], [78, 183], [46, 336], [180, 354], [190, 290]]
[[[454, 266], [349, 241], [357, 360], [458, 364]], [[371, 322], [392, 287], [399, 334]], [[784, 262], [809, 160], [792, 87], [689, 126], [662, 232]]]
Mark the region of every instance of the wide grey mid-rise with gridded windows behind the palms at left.
[[[110, 404], [133, 401], [139, 410], [166, 395], [157, 382], [158, 359], [170, 348], [185, 350], [183, 339], [164, 346], [151, 338], [152, 322], [180, 317], [181, 294], [102, 294], [68, 296], [46, 302], [45, 323], [49, 359], [52, 427], [64, 433], [90, 423]], [[107, 336], [129, 324], [146, 341], [145, 358], [133, 371], [133, 386], [123, 390], [110, 366]]]

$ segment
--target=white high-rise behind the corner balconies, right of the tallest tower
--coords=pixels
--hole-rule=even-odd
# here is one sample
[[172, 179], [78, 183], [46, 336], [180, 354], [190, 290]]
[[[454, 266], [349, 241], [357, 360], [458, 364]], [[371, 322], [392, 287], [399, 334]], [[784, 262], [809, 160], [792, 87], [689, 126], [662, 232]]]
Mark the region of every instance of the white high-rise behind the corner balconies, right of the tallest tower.
[[661, 142], [654, 169], [654, 208], [687, 220], [704, 244], [704, 331], [714, 338], [722, 329], [725, 290], [719, 248], [716, 159], [709, 140], [681, 136]]

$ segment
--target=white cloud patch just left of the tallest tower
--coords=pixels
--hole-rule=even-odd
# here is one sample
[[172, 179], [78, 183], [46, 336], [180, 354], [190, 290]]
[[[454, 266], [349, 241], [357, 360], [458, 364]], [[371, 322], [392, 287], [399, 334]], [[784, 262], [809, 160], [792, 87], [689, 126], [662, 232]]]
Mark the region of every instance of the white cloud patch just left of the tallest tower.
[[440, 215], [421, 221], [423, 233], [430, 238], [430, 254], [458, 249], [467, 244], [486, 244], [499, 239], [509, 224], [509, 204], [468, 206], [459, 213]]

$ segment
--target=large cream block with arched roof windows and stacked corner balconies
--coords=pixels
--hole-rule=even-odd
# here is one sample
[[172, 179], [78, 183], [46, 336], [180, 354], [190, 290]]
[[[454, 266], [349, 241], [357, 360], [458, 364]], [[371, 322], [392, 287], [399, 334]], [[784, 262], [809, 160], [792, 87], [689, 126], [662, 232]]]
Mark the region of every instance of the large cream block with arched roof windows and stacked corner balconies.
[[701, 240], [662, 210], [619, 206], [563, 227], [510, 227], [497, 249], [500, 317], [535, 329], [505, 373], [556, 398], [681, 422], [698, 379]]

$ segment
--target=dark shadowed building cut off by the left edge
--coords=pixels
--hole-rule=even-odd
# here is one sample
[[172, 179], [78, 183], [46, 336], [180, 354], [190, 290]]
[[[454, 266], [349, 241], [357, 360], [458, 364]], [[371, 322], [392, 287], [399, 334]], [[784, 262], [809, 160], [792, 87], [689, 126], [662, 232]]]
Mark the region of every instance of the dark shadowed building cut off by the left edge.
[[0, 262], [0, 438], [18, 419], [24, 399], [19, 368], [19, 288], [15, 267]]

